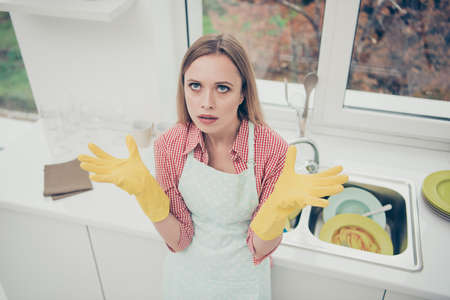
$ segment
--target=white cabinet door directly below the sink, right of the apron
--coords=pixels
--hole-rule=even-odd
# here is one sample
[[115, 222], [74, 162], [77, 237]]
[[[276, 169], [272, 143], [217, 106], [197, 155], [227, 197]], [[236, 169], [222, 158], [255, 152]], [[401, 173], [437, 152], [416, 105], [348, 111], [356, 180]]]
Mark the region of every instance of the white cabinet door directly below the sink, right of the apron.
[[324, 275], [274, 266], [273, 299], [381, 300], [384, 289], [363, 286]]

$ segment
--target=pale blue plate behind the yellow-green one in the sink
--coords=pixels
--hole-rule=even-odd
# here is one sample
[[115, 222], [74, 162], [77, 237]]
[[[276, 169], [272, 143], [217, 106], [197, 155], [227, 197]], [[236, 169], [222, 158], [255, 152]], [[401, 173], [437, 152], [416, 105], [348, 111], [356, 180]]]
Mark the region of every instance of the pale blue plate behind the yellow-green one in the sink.
[[[328, 201], [329, 205], [323, 209], [324, 223], [339, 214], [362, 215], [382, 207], [380, 201], [372, 193], [356, 187], [346, 187], [339, 194], [330, 196]], [[380, 224], [382, 228], [386, 227], [384, 212], [369, 216], [369, 218]]]

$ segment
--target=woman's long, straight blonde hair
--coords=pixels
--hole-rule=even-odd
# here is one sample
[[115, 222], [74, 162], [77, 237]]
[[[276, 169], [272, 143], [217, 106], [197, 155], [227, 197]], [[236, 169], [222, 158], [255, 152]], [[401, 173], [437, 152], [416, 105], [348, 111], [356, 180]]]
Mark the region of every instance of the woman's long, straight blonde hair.
[[178, 77], [177, 114], [178, 122], [192, 122], [186, 106], [184, 95], [184, 74], [189, 66], [199, 57], [210, 54], [226, 55], [236, 66], [241, 75], [244, 101], [238, 107], [238, 118], [255, 124], [265, 125], [261, 104], [256, 89], [255, 73], [250, 60], [239, 41], [230, 34], [204, 35], [192, 44], [184, 55]]

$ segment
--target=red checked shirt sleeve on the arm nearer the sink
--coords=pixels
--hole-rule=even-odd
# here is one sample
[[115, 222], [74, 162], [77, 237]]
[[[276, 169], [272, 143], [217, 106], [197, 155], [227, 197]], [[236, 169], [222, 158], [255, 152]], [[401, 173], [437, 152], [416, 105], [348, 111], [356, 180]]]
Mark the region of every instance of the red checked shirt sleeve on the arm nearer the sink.
[[[277, 146], [278, 147], [276, 149], [276, 152], [278, 153], [278, 155], [275, 155], [275, 157], [270, 158], [269, 161], [267, 162], [266, 170], [269, 170], [269, 171], [267, 172], [267, 176], [264, 176], [264, 178], [263, 178], [262, 186], [261, 186], [261, 193], [260, 193], [261, 196], [259, 197], [259, 204], [258, 204], [258, 207], [256, 208], [255, 212], [253, 213], [252, 220], [256, 216], [256, 214], [259, 212], [259, 209], [261, 208], [261, 206], [266, 202], [267, 198], [269, 198], [270, 194], [272, 194], [273, 189], [275, 187], [275, 183], [277, 182], [278, 178], [281, 175], [281, 171], [283, 170], [284, 161], [286, 159], [286, 153], [287, 153], [287, 149], [288, 149], [288, 144], [283, 141], [281, 144], [279, 144]], [[255, 265], [258, 265], [266, 257], [270, 257], [270, 255], [278, 248], [282, 239], [280, 239], [280, 242], [269, 253], [267, 253], [263, 257], [260, 257], [259, 259], [257, 259], [255, 256], [255, 254], [256, 254], [255, 246], [253, 244], [254, 234], [255, 234], [255, 232], [249, 226], [248, 232], [247, 232], [247, 245], [248, 245], [248, 248], [250, 249], [250, 252], [253, 255], [253, 263]], [[272, 263], [272, 260], [271, 260], [271, 263]]]

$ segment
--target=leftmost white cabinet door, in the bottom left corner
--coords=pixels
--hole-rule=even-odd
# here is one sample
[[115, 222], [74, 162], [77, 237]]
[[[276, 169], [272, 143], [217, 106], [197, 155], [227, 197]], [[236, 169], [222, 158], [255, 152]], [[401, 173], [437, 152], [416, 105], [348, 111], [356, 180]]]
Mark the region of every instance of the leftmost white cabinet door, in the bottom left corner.
[[101, 300], [86, 226], [0, 209], [0, 282], [8, 300]]

